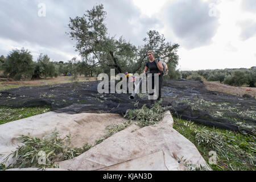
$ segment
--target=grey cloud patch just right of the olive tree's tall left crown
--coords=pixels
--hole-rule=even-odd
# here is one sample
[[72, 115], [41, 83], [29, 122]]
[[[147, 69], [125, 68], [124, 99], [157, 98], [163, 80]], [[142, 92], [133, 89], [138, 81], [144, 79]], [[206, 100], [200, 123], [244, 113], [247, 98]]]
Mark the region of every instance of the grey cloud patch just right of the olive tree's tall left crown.
[[156, 18], [140, 17], [140, 10], [130, 0], [101, 2], [107, 11], [106, 25], [110, 35], [123, 36], [135, 46], [143, 43], [147, 31], [159, 26]]

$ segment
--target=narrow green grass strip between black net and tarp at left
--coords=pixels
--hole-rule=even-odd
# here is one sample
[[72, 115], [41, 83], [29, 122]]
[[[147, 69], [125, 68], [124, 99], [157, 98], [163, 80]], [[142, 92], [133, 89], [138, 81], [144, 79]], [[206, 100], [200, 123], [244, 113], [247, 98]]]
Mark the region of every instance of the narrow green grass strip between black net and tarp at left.
[[0, 107], [0, 125], [15, 121], [22, 118], [31, 117], [32, 115], [38, 115], [50, 111], [49, 106], [45, 107]]

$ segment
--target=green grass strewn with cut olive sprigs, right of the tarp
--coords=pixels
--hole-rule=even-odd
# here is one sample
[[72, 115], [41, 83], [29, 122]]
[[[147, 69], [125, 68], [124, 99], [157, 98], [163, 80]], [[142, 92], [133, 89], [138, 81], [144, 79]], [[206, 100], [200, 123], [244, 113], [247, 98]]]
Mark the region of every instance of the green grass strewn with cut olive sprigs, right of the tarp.
[[217, 154], [217, 164], [209, 164], [216, 171], [255, 170], [255, 136], [196, 125], [174, 117], [174, 129], [190, 140], [209, 164], [210, 151]]

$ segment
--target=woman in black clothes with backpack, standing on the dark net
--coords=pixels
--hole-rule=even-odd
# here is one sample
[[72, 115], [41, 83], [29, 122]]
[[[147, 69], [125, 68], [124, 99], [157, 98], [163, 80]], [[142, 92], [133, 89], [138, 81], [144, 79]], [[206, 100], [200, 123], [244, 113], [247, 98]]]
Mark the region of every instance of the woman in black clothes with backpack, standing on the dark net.
[[[163, 65], [159, 59], [155, 59], [154, 51], [152, 51], [152, 50], [147, 51], [147, 57], [148, 57], [148, 61], [147, 61], [146, 67], [144, 68], [143, 73], [146, 73], [148, 68], [150, 69], [149, 73], [152, 73], [152, 76], [151, 76], [152, 89], [155, 88], [156, 84], [159, 84], [158, 90], [156, 90], [156, 91], [158, 93], [157, 100], [160, 100], [161, 89], [162, 89], [162, 84], [163, 84]], [[157, 82], [155, 83], [155, 77], [154, 77], [155, 73], [158, 74], [158, 83]], [[150, 93], [150, 96], [152, 96], [152, 95], [154, 95], [154, 92]], [[151, 98], [151, 100], [152, 100], [152, 98]]]

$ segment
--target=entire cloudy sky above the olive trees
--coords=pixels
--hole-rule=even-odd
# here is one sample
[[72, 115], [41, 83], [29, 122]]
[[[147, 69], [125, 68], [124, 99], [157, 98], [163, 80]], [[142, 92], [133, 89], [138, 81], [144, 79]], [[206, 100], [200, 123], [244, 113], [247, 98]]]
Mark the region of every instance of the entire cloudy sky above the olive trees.
[[[180, 44], [178, 69], [256, 66], [255, 0], [0, 0], [0, 55], [28, 49], [52, 61], [79, 57], [69, 32], [69, 17], [103, 4], [111, 36], [135, 46], [149, 30]], [[44, 11], [45, 10], [45, 11]]]

